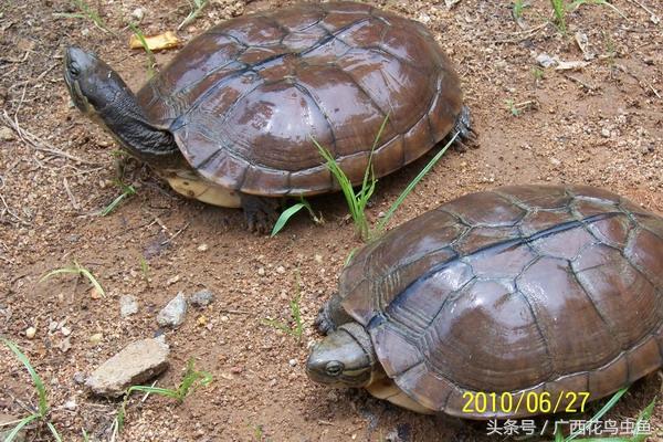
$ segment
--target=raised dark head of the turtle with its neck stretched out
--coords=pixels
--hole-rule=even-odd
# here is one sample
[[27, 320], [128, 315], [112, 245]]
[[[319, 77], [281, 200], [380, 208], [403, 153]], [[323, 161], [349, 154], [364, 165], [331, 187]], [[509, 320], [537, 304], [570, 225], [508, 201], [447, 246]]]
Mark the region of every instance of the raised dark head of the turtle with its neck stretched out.
[[76, 46], [67, 48], [64, 53], [64, 82], [76, 107], [90, 116], [131, 94], [110, 66]]

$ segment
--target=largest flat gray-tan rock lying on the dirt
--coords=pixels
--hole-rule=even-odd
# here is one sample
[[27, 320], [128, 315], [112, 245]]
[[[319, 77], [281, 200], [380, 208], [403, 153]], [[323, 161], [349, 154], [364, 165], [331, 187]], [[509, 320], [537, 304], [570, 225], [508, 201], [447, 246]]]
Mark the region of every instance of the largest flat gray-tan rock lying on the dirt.
[[94, 370], [85, 386], [95, 394], [116, 398], [128, 387], [166, 370], [169, 352], [168, 346], [157, 339], [137, 340]]

